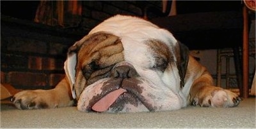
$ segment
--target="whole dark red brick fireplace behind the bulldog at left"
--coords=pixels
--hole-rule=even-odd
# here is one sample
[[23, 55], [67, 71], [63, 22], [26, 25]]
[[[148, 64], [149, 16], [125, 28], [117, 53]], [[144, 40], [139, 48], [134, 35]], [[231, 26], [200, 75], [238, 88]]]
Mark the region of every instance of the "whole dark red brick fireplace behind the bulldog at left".
[[[3, 1], [1, 7], [17, 6], [8, 11], [22, 14], [26, 7], [19, 6], [28, 6], [29, 1], [25, 2]], [[113, 15], [143, 17], [143, 9], [148, 5], [161, 8], [161, 1], [82, 1], [79, 25], [70, 28], [4, 16], [6, 11], [1, 10], [1, 83], [17, 89], [54, 88], [65, 76], [63, 64], [69, 46]]]

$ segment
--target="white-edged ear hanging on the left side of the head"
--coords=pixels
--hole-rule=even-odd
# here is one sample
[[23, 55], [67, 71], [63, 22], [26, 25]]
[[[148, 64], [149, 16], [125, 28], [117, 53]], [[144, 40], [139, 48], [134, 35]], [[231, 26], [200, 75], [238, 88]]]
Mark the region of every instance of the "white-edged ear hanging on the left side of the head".
[[69, 81], [73, 98], [76, 98], [74, 85], [76, 80], [77, 51], [79, 49], [79, 46], [80, 43], [79, 41], [77, 41], [73, 46], [68, 49], [67, 60], [64, 63], [65, 73]]

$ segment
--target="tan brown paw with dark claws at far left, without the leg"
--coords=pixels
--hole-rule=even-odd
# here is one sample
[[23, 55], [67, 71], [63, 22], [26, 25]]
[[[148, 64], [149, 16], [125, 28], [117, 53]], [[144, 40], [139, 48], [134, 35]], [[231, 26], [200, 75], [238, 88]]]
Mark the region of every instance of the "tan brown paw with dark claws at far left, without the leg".
[[12, 102], [18, 109], [44, 109], [49, 107], [42, 93], [35, 90], [24, 90], [16, 93]]

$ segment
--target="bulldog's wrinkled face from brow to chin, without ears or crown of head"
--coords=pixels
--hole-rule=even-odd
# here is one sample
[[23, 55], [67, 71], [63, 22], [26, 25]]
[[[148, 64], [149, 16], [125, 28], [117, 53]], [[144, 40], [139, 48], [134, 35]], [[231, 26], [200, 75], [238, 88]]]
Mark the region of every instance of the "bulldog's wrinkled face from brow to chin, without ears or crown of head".
[[[84, 43], [81, 43], [84, 42]], [[170, 48], [157, 39], [128, 43], [99, 32], [77, 51], [75, 92], [79, 111], [140, 112], [180, 108], [179, 72]]]

